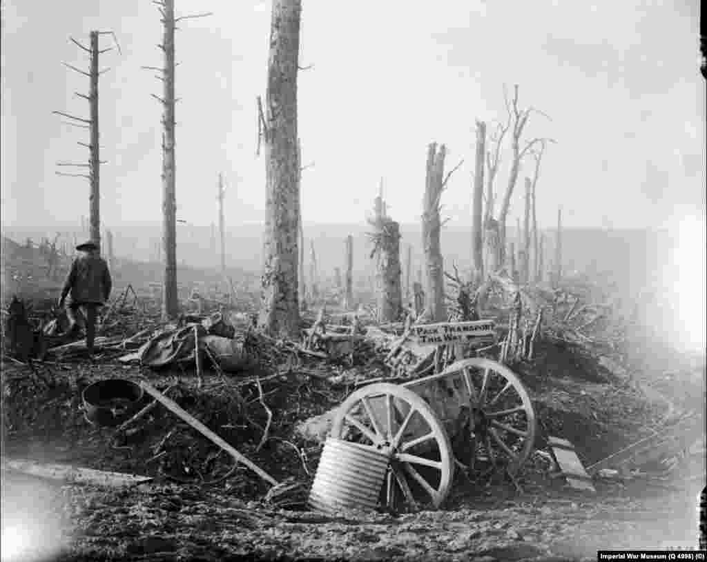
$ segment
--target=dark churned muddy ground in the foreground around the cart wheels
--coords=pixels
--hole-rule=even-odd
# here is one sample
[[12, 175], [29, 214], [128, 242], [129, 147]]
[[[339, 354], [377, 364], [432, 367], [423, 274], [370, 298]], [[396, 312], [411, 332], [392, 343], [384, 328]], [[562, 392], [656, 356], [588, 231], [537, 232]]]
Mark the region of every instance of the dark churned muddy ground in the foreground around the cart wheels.
[[[666, 419], [704, 412], [704, 362], [636, 340], [629, 377], [617, 378], [571, 347], [543, 344], [534, 364], [513, 366], [534, 400], [540, 436], [571, 441], [585, 466], [650, 436]], [[653, 357], [651, 357], [653, 355]], [[276, 369], [276, 370], [275, 370]], [[269, 486], [158, 407], [136, 434], [117, 438], [83, 417], [81, 389], [100, 378], [147, 378], [276, 479], [308, 484], [319, 443], [303, 441], [298, 421], [337, 405], [353, 390], [332, 384], [362, 364], [321, 361], [270, 365], [258, 374], [274, 414], [269, 440], [255, 371], [207, 374], [142, 371], [117, 361], [4, 364], [3, 454], [155, 477], [132, 489], [52, 484], [3, 473], [6, 544], [54, 560], [595, 560], [597, 549], [694, 547], [704, 486], [701, 456], [689, 455], [659, 478], [597, 480], [596, 495], [548, 476], [538, 455], [518, 479], [456, 477], [442, 510], [390, 515], [288, 509], [266, 503]], [[235, 393], [243, 401], [235, 400]], [[703, 424], [703, 420], [702, 420]], [[302, 496], [303, 499], [305, 495]], [[31, 549], [30, 549], [31, 550]]]

